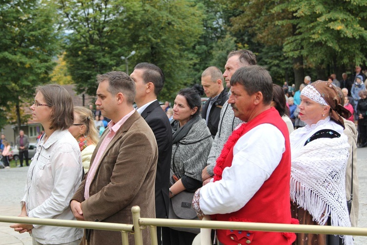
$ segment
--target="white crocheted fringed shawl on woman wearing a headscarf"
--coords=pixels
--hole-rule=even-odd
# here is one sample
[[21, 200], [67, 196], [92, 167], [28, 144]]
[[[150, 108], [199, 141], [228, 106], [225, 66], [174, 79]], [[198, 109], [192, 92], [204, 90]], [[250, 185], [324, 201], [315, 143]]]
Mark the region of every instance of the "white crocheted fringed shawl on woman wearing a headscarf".
[[[330, 123], [326, 121], [321, 123], [324, 124], [322, 129]], [[302, 130], [312, 131], [313, 134], [321, 128], [315, 125]], [[296, 131], [292, 134], [294, 138], [303, 141], [304, 137], [299, 137]], [[309, 133], [303, 135], [309, 136]], [[298, 149], [292, 152], [291, 198], [321, 225], [330, 216], [332, 226], [351, 226], [345, 197], [345, 168], [349, 148], [347, 137], [342, 134], [340, 138], [321, 138], [303, 146], [307, 139], [303, 141], [302, 147], [296, 147]], [[352, 237], [344, 236], [344, 243], [353, 244]]]

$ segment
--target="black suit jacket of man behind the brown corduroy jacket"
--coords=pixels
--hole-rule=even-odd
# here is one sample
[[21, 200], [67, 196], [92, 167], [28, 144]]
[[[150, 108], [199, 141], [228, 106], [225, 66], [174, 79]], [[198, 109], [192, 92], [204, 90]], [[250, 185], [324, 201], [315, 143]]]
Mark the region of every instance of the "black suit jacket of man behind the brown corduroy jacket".
[[141, 117], [152, 129], [158, 145], [158, 164], [156, 175], [156, 217], [168, 217], [169, 172], [172, 155], [172, 128], [167, 115], [158, 100], [151, 103], [141, 113]]

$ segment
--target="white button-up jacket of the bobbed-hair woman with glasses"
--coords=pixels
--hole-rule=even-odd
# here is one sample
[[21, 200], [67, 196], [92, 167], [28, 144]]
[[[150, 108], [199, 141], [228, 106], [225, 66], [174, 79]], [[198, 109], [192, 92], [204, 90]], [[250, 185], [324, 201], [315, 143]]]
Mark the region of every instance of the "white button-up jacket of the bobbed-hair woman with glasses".
[[[68, 130], [56, 130], [37, 151], [29, 166], [21, 205], [31, 218], [75, 220], [69, 202], [80, 185], [82, 159], [77, 141]], [[63, 244], [80, 239], [83, 229], [33, 225], [32, 236], [42, 244]]]

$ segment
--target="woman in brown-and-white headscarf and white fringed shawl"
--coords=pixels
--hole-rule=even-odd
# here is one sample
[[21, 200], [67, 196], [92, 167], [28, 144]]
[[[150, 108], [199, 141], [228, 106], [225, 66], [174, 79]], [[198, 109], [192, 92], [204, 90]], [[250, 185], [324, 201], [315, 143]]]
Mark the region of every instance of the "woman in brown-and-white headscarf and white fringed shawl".
[[[334, 85], [316, 81], [301, 92], [300, 119], [290, 135], [292, 217], [300, 224], [350, 226], [345, 197], [348, 142], [343, 107]], [[351, 236], [298, 234], [295, 245], [351, 245]]]

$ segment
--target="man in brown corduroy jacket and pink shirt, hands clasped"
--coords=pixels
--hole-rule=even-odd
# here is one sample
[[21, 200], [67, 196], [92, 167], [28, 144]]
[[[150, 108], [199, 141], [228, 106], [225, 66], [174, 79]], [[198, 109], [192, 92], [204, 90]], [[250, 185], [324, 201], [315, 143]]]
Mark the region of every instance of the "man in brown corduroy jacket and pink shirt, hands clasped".
[[[154, 181], [158, 149], [148, 124], [133, 108], [134, 81], [123, 72], [97, 75], [97, 100], [111, 122], [95, 148], [89, 171], [70, 202], [77, 220], [132, 224], [131, 208], [155, 218]], [[142, 230], [150, 244], [149, 229]], [[91, 245], [121, 244], [121, 233], [87, 230]], [[129, 234], [129, 244], [134, 236]]]

